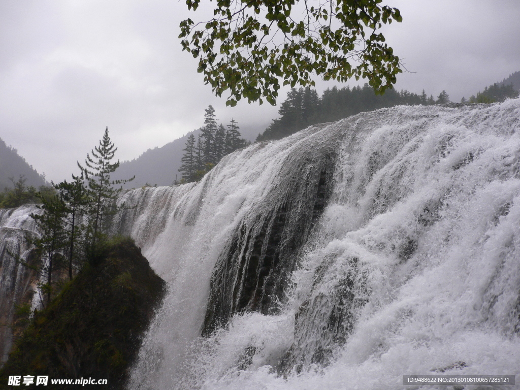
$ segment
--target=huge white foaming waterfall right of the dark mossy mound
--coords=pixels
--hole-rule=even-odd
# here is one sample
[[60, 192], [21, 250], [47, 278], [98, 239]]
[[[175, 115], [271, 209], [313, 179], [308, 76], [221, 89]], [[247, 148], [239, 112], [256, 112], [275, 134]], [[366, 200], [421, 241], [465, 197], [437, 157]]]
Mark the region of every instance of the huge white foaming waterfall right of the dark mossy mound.
[[362, 113], [123, 201], [170, 285], [129, 389], [520, 381], [519, 99]]

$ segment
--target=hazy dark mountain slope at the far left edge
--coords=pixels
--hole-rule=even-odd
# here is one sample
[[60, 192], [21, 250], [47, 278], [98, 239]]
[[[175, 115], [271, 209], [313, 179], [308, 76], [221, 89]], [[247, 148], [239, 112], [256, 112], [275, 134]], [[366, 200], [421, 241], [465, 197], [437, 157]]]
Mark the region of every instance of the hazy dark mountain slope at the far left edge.
[[36, 188], [45, 185], [45, 179], [38, 174], [36, 170], [29, 165], [18, 150], [7, 146], [2, 138], [0, 138], [0, 191], [4, 188], [12, 188], [9, 177], [13, 177], [17, 181], [20, 175], [25, 176], [26, 186], [34, 186]]

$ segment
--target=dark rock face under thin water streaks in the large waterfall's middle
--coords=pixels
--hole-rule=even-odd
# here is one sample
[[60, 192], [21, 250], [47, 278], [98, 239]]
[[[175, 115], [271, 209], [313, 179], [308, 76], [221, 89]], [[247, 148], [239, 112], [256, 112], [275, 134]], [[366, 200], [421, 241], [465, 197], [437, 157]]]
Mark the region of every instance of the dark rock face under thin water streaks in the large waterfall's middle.
[[298, 161], [218, 258], [203, 325], [209, 334], [240, 311], [275, 313], [297, 253], [332, 191], [334, 154]]

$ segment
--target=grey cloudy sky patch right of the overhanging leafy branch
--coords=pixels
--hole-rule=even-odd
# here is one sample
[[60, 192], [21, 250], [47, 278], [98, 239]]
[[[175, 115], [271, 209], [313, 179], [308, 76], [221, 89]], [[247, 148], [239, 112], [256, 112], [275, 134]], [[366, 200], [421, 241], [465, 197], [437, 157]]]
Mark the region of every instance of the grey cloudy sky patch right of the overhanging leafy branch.
[[417, 2], [394, 0], [403, 22], [392, 24], [387, 42], [414, 73], [398, 77], [398, 88], [452, 100], [476, 94], [520, 70], [520, 8], [515, 1]]

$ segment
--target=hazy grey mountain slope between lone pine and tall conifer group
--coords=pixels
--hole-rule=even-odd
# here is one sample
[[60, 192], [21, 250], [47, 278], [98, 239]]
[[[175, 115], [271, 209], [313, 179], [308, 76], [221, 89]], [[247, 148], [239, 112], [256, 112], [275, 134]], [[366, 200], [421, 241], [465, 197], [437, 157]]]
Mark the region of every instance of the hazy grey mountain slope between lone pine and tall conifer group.
[[137, 159], [122, 162], [111, 178], [128, 179], [135, 175], [135, 179], [123, 186], [124, 188], [136, 188], [145, 184], [169, 186], [175, 181], [175, 177], [180, 180], [180, 159], [190, 134], [197, 138], [199, 131], [190, 132], [161, 148], [148, 149]]

